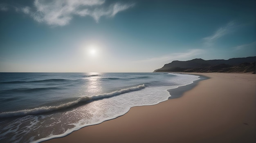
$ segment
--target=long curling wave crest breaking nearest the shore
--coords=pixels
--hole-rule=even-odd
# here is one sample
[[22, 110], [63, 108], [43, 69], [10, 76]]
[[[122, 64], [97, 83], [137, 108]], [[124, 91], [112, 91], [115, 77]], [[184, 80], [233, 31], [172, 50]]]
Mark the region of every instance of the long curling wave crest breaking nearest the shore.
[[100, 94], [100, 95], [94, 95], [91, 97], [84, 96], [75, 101], [67, 102], [65, 104], [61, 104], [58, 106], [43, 106], [43, 107], [38, 107], [38, 108], [33, 108], [33, 109], [25, 109], [25, 110], [21, 110], [21, 111], [4, 112], [4, 113], [0, 113], [0, 118], [34, 115], [34, 114], [51, 112], [51, 111], [58, 111], [60, 109], [75, 106], [82, 102], [91, 102], [91, 101], [99, 100], [99, 99], [103, 99], [103, 98], [110, 98], [110, 97], [113, 97], [116, 95], [121, 95], [121, 94], [132, 92], [132, 91], [138, 91], [138, 90], [141, 90], [144, 88], [145, 88], [145, 85], [139, 85], [137, 87], [130, 87], [128, 89], [121, 89], [118, 91], [113, 91], [110, 93], [105, 93], [105, 94]]

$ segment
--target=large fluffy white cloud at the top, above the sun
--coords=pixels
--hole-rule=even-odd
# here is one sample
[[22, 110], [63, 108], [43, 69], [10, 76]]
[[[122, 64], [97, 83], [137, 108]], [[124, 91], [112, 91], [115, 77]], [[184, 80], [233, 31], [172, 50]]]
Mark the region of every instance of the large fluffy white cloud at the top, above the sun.
[[[50, 26], [65, 26], [75, 15], [93, 17], [98, 23], [101, 17], [114, 17], [134, 5], [116, 2], [106, 6], [105, 0], [35, 0], [33, 7], [13, 7], [17, 12], [30, 15], [36, 22]], [[0, 4], [0, 10], [8, 9], [6, 5]]]

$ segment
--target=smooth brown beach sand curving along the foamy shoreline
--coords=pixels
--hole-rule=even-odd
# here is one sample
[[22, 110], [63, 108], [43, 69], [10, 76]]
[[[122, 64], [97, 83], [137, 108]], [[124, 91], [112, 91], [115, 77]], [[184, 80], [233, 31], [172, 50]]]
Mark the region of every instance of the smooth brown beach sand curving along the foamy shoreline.
[[201, 75], [210, 79], [180, 98], [45, 143], [255, 143], [256, 75]]

